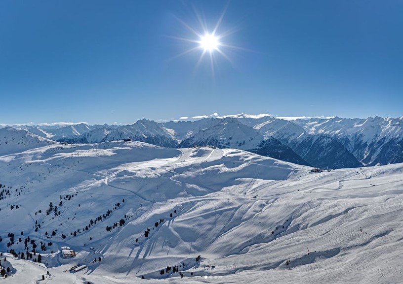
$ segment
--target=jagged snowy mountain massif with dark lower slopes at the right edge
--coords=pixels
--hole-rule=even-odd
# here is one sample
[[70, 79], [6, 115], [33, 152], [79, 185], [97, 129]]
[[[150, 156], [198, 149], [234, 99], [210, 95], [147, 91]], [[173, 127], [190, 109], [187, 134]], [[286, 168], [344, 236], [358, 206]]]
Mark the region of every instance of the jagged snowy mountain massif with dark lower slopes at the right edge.
[[297, 120], [312, 134], [337, 139], [366, 165], [403, 162], [403, 117]]

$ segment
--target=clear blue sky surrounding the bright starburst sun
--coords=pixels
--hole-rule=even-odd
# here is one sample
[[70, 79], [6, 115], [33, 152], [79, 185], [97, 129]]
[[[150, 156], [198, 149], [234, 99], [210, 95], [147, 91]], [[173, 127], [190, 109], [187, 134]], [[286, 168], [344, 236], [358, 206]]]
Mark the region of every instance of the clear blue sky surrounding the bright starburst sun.
[[[217, 34], [214, 72], [197, 15]], [[196, 12], [195, 12], [196, 11]], [[0, 123], [400, 117], [399, 0], [1, 0]]]

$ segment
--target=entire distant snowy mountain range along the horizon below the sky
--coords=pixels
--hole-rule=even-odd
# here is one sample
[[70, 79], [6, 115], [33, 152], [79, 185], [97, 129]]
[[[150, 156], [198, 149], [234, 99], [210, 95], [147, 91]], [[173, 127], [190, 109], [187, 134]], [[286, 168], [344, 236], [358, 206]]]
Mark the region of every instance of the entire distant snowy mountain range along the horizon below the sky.
[[[2, 128], [2, 131], [12, 129], [15, 128], [8, 126]], [[99, 143], [131, 139], [167, 148], [202, 145], [235, 148], [324, 169], [403, 162], [403, 117], [334, 117], [289, 121], [272, 116], [254, 118], [241, 114], [193, 122], [157, 123], [142, 119], [125, 126], [90, 126], [84, 123], [68, 126], [20, 126], [19, 131], [23, 130], [27, 131], [24, 135], [29, 137], [31, 143], [35, 140], [40, 146], [51, 143], [51, 140]], [[16, 135], [15, 131], [10, 133]], [[10, 139], [6, 138], [7, 135], [2, 136], [4, 138], [3, 142], [0, 139], [1, 145], [5, 144], [4, 139]], [[34, 136], [39, 137], [34, 139]], [[20, 145], [28, 143], [19, 142]], [[0, 152], [6, 153], [6, 150]]]

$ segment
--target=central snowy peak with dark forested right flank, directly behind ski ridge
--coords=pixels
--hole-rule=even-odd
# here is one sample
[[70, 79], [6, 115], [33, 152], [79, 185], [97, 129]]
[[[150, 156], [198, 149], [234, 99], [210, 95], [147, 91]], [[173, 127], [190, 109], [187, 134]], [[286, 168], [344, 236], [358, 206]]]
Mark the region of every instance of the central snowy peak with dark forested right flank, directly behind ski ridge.
[[275, 138], [264, 137], [263, 133], [245, 126], [235, 118], [214, 119], [212, 126], [196, 132], [183, 140], [179, 148], [210, 145], [218, 148], [234, 148], [250, 151], [262, 156], [282, 159], [298, 164], [308, 163], [289, 147]]

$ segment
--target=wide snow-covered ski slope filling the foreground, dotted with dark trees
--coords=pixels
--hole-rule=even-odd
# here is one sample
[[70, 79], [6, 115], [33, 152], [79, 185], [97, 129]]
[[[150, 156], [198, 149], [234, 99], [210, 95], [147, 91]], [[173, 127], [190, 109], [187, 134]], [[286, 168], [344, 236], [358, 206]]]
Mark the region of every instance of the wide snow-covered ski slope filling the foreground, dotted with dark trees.
[[[0, 183], [12, 193], [0, 200], [0, 251], [8, 232], [47, 243], [45, 232], [57, 229], [46, 252], [37, 248], [47, 267], [7, 254], [16, 272], [5, 281], [402, 283], [403, 164], [310, 170], [241, 150], [139, 142], [55, 144], [2, 156]], [[60, 201], [60, 215], [45, 214]], [[65, 245], [78, 255], [63, 259]], [[24, 244], [11, 248], [21, 252]], [[67, 272], [78, 263], [88, 269]], [[161, 275], [168, 265], [184, 277]]]

